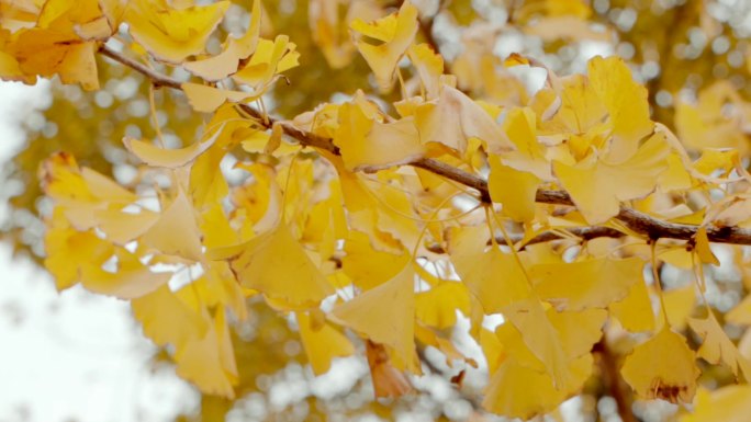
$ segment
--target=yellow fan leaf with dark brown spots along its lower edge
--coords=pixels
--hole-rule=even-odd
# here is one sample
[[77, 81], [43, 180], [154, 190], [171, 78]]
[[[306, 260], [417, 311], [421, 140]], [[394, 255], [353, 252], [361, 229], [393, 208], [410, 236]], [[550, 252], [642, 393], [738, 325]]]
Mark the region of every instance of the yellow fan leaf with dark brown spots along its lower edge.
[[665, 324], [634, 349], [620, 373], [640, 398], [690, 403], [700, 372], [686, 339]]

